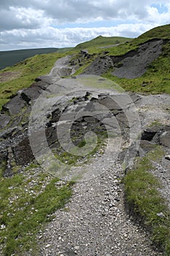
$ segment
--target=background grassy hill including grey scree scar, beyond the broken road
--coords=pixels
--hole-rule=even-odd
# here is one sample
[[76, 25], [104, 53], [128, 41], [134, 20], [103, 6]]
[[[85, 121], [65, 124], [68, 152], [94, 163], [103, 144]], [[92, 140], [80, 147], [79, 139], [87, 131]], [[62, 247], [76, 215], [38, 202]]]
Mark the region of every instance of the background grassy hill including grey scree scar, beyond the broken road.
[[[136, 39], [99, 36], [77, 45], [72, 48], [72, 51], [66, 51], [69, 50], [67, 48], [52, 48], [53, 53], [36, 55], [16, 64], [14, 67], [7, 67], [0, 72], [0, 108], [19, 89], [31, 85], [39, 75], [45, 75], [50, 72], [58, 58], [71, 53], [73, 56], [70, 64], [74, 64], [77, 69], [75, 75], [101, 75], [118, 83], [126, 91], [169, 94], [169, 31], [170, 25], [165, 25], [151, 29]], [[111, 44], [117, 43], [116, 40], [121, 43], [110, 47]], [[80, 53], [81, 48], [88, 49], [87, 56]], [[32, 54], [35, 55], [39, 50], [45, 52], [45, 50], [49, 49], [34, 49]], [[60, 51], [65, 51], [65, 53], [58, 53]], [[12, 53], [14, 53], [14, 58]], [[26, 58], [25, 54], [27, 53], [30, 54], [31, 50], [7, 52], [4, 61], [7, 61], [7, 56], [11, 61], [18, 54], [21, 61], [21, 59]], [[4, 53], [0, 52], [0, 56], [2, 54]], [[131, 68], [131, 72], [127, 72], [127, 67], [128, 69]], [[133, 74], [134, 67], [136, 69], [135, 74]]]

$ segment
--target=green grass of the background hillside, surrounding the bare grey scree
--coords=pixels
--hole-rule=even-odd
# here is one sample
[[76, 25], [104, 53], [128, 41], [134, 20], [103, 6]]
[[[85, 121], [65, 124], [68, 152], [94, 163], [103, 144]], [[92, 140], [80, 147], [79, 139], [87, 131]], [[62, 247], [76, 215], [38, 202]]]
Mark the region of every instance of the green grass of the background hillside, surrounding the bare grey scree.
[[[82, 60], [82, 67], [77, 70], [77, 74], [81, 72], [91, 64], [91, 62], [98, 58], [98, 56], [112, 55], [120, 56], [128, 53], [131, 50], [135, 50], [142, 42], [146, 42], [152, 38], [167, 39], [163, 45], [163, 52], [161, 56], [153, 61], [147, 69], [147, 72], [140, 78], [126, 79], [117, 78], [112, 75], [112, 70], [105, 73], [103, 76], [114, 80], [126, 91], [136, 91], [141, 93], [170, 94], [170, 25], [161, 26], [155, 29], [151, 29], [142, 34], [136, 39], [128, 39], [124, 37], [96, 37], [93, 40], [77, 45], [72, 51], [66, 51], [65, 53], [49, 53], [41, 54], [31, 57], [25, 61], [16, 64], [14, 67], [7, 67], [0, 71], [0, 108], [1, 105], [9, 101], [12, 94], [15, 94], [19, 89], [26, 88], [34, 82], [34, 79], [39, 75], [45, 75], [50, 72], [53, 64], [58, 58], [66, 56], [70, 53], [75, 53], [74, 59], [80, 59], [80, 49], [88, 48], [90, 54], [95, 53], [93, 58]], [[114, 45], [119, 40], [120, 45], [115, 45], [109, 48], [99, 48], [104, 45]], [[131, 40], [131, 42], [127, 42]], [[124, 43], [123, 43], [124, 42]], [[47, 50], [47, 49], [45, 49]], [[53, 49], [57, 50], [57, 49]], [[60, 51], [66, 49], [60, 49]], [[107, 53], [105, 53], [107, 50]], [[12, 53], [12, 51], [10, 52]], [[24, 51], [23, 51], [24, 53]], [[26, 51], [25, 51], [26, 53]], [[34, 52], [35, 53], [35, 52]], [[22, 51], [21, 51], [22, 56]]]

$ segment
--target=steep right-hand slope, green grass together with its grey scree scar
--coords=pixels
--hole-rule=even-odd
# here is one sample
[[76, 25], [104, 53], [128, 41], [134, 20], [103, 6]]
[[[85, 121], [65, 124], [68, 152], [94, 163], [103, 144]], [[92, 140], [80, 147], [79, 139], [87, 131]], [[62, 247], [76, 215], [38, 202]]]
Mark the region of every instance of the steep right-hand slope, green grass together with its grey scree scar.
[[90, 51], [79, 73], [103, 75], [129, 91], [170, 93], [169, 30], [170, 25], [152, 29], [131, 42], [96, 52], [91, 61]]

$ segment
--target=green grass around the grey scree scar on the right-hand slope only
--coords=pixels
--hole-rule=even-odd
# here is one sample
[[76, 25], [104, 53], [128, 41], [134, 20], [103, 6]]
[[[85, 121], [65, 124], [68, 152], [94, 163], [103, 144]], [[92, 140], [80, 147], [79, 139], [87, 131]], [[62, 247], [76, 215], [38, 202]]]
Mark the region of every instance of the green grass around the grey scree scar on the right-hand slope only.
[[[127, 79], [117, 78], [112, 75], [113, 69], [110, 69], [103, 76], [114, 80], [126, 91], [135, 91], [140, 93], [152, 93], [152, 94], [170, 94], [170, 25], [160, 26], [155, 29], [151, 29], [131, 42], [125, 42], [115, 47], [109, 48], [88, 48], [90, 54], [96, 53], [96, 56], [121, 56], [131, 50], [136, 50], [139, 46], [147, 42], [150, 39], [166, 39], [163, 44], [161, 56], [148, 66], [147, 72], [144, 73], [140, 78]], [[107, 51], [107, 54], [104, 53]], [[85, 61], [85, 66], [90, 65], [90, 61]], [[77, 71], [77, 74], [83, 72], [83, 66]]]

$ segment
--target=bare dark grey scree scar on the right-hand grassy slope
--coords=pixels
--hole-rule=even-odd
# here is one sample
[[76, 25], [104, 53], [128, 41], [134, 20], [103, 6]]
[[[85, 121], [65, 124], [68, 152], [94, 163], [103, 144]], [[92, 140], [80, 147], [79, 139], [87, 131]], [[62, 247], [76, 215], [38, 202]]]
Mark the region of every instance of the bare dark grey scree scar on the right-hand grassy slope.
[[112, 69], [118, 78], [139, 78], [149, 64], [161, 55], [163, 39], [151, 39], [123, 56], [98, 57], [83, 74], [101, 75]]

